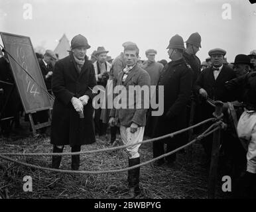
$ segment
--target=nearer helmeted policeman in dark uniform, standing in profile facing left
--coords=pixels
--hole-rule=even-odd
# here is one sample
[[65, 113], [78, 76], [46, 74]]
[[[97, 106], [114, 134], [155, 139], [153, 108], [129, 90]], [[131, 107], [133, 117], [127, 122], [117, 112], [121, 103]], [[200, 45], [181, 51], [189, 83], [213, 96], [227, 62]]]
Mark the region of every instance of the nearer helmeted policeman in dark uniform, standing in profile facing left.
[[[172, 61], [164, 67], [156, 91], [157, 99], [160, 99], [159, 95], [164, 95], [164, 113], [159, 117], [153, 117], [153, 138], [186, 127], [186, 105], [190, 99], [193, 74], [182, 57], [185, 49], [182, 37], [178, 34], [173, 36], [167, 48]], [[160, 85], [164, 86], [164, 93], [159, 93]], [[153, 142], [153, 158], [164, 154], [164, 143], [167, 144], [166, 152], [170, 152], [185, 142], [184, 134], [155, 141]], [[167, 156], [167, 164], [172, 165], [175, 159], [176, 154]], [[158, 160], [155, 164], [158, 166], [164, 164], [164, 159]]]

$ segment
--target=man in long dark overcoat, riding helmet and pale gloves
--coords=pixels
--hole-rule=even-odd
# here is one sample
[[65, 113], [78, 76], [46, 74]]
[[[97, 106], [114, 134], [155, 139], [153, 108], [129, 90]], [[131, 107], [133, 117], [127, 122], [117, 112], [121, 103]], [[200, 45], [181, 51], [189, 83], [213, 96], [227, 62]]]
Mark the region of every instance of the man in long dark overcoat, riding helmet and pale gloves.
[[[70, 55], [54, 66], [52, 91], [55, 95], [52, 110], [51, 144], [53, 152], [62, 152], [70, 145], [80, 152], [81, 145], [96, 141], [93, 127], [92, 89], [96, 83], [94, 66], [86, 56], [90, 48], [87, 39], [78, 34], [71, 41]], [[52, 167], [60, 166], [61, 156], [52, 157]], [[72, 156], [72, 170], [78, 170], [80, 156]]]

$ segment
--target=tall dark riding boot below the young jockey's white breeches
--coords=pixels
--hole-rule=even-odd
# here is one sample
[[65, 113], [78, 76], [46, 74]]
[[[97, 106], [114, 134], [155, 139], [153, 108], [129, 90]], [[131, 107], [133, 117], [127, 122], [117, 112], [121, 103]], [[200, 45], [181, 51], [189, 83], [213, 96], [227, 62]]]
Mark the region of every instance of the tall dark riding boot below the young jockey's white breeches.
[[[129, 167], [135, 166], [137, 164], [140, 164], [140, 158], [129, 159]], [[139, 188], [139, 170], [140, 168], [134, 168], [128, 174], [129, 191], [127, 196], [125, 196], [126, 199], [133, 199], [141, 192]]]

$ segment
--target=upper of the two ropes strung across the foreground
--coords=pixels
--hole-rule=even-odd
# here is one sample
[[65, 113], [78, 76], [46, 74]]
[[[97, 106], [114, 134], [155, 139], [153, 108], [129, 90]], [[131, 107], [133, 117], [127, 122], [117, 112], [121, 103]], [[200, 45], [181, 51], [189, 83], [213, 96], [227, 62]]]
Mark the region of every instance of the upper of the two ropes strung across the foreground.
[[[141, 142], [137, 142], [137, 144], [145, 144], [145, 143], [148, 143], [148, 142], [154, 142], [154, 141], [157, 141], [157, 140], [162, 140], [162, 139], [168, 138], [168, 137], [173, 137], [176, 134], [180, 134], [182, 132], [189, 131], [190, 129], [194, 129], [195, 127], [199, 127], [200, 125], [204, 125], [205, 123], [208, 123], [210, 121], [217, 121], [217, 120], [218, 119], [216, 119], [216, 118], [206, 119], [206, 120], [204, 120], [204, 121], [202, 121], [202, 122], [200, 122], [196, 125], [192, 125], [190, 127], [182, 129], [180, 131], [172, 132], [170, 134], [166, 134], [164, 136], [159, 136], [157, 138], [151, 138], [151, 139], [148, 139], [148, 140], [143, 140]], [[220, 123], [218, 123], [218, 125], [220, 125]], [[9, 156], [64, 156], [64, 155], [78, 155], [78, 154], [90, 154], [90, 153], [97, 153], [97, 152], [107, 152], [107, 151], [127, 148], [128, 146], [133, 146], [133, 145], [134, 144], [126, 144], [126, 145], [123, 145], [123, 146], [103, 148], [103, 149], [99, 149], [99, 150], [88, 150], [88, 151], [84, 151], [84, 152], [63, 152], [63, 153], [11, 153], [11, 152], [0, 152], [0, 154], [1, 155], [9, 155]]]

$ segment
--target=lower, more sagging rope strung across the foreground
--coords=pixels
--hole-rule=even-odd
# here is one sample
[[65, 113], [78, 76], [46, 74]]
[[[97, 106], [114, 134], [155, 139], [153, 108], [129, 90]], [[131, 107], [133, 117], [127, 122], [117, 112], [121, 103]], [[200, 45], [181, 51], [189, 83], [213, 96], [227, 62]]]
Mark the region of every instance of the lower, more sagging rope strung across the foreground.
[[[211, 126], [212, 127], [212, 126]], [[210, 128], [210, 127], [209, 127]], [[209, 129], [208, 128], [208, 129]], [[199, 136], [197, 136], [196, 138], [194, 138], [194, 140], [188, 142], [188, 144], [185, 144], [183, 146], [180, 146], [179, 148], [176, 148], [175, 150], [172, 150], [171, 152], [168, 152], [166, 154], [162, 154], [161, 156], [157, 157], [157, 158], [153, 158], [151, 160], [148, 160], [147, 162], [143, 162], [141, 164], [135, 165], [135, 166], [131, 166], [129, 168], [123, 168], [120, 170], [102, 170], [102, 171], [74, 171], [74, 170], [59, 170], [59, 169], [55, 169], [55, 168], [46, 168], [46, 167], [42, 167], [42, 166], [36, 166], [36, 165], [32, 165], [32, 164], [27, 164], [25, 162], [20, 162], [17, 160], [14, 160], [13, 158], [9, 158], [7, 156], [3, 156], [0, 154], [0, 158], [4, 159], [4, 160], [9, 160], [11, 162], [15, 162], [17, 164], [21, 164], [23, 166], [29, 166], [31, 168], [37, 168], [39, 170], [46, 170], [46, 171], [52, 171], [52, 172], [61, 172], [61, 173], [67, 173], [67, 174], [109, 174], [109, 173], [117, 173], [117, 172], [126, 172], [128, 170], [132, 170], [133, 168], [138, 168], [140, 166], [144, 166], [147, 165], [151, 162], [155, 162], [156, 160], [159, 160], [160, 158], [164, 158], [170, 154], [173, 154], [174, 152], [178, 152], [179, 150], [181, 150], [182, 148], [186, 148], [187, 146], [189, 146], [190, 144], [196, 142], [197, 140], [201, 140], [202, 138], [208, 136], [209, 134], [213, 133], [214, 131], [217, 131], [218, 129], [220, 129], [221, 127], [216, 127], [215, 129], [213, 129], [210, 132], [207, 132], [208, 129], [206, 131], [204, 131], [202, 134], [200, 134]]]

